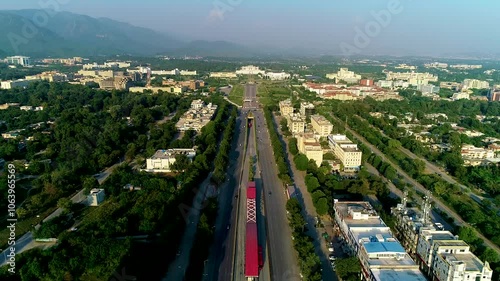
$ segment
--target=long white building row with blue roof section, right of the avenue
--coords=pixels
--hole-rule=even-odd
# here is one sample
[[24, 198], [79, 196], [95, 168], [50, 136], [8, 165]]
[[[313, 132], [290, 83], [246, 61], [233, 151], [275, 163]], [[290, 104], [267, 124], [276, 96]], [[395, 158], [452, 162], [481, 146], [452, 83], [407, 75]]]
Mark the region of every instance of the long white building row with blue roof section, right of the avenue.
[[334, 211], [345, 250], [360, 260], [362, 280], [426, 280], [368, 202], [335, 199]]

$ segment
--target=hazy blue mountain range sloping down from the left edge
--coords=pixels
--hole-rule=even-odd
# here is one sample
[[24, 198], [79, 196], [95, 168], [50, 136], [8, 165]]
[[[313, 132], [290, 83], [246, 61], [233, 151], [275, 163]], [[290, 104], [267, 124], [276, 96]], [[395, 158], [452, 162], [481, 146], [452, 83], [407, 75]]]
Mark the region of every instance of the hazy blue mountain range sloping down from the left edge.
[[70, 12], [0, 11], [0, 34], [0, 56], [165, 54], [248, 57], [258, 54], [253, 49], [227, 41], [186, 42], [152, 29]]

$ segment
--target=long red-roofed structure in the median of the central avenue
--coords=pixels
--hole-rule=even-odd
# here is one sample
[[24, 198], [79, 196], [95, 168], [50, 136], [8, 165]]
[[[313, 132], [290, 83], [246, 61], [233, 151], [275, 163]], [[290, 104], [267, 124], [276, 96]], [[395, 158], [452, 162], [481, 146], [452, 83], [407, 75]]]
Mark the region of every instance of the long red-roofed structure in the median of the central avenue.
[[247, 186], [247, 227], [245, 237], [245, 277], [259, 277], [259, 245], [257, 235], [255, 182]]

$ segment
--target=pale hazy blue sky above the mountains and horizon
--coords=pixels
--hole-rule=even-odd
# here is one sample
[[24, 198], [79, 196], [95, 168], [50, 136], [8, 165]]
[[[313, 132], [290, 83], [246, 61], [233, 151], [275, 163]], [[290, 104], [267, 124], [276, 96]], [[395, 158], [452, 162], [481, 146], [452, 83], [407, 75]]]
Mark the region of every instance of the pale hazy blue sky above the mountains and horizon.
[[[384, 54], [500, 53], [500, 1], [495, 0], [0, 1], [0, 9], [61, 3], [61, 10], [108, 17], [186, 39], [320, 50], [341, 46], [354, 50], [353, 46], [362, 53]], [[390, 14], [387, 24], [381, 22], [385, 26], [373, 22], [379, 11]], [[368, 42], [356, 41], [356, 29], [367, 28], [371, 30]]]

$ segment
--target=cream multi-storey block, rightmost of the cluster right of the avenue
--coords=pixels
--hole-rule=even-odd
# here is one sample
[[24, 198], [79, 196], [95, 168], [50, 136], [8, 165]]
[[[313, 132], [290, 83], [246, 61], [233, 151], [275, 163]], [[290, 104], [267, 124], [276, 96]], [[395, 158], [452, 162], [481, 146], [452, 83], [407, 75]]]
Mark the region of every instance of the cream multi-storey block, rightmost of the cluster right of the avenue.
[[345, 135], [329, 135], [328, 144], [344, 165], [344, 171], [359, 170], [363, 152], [358, 148], [357, 144], [353, 143]]

